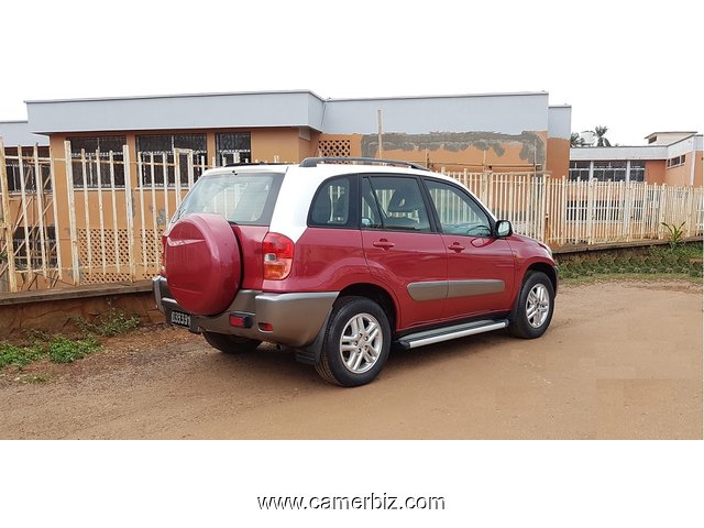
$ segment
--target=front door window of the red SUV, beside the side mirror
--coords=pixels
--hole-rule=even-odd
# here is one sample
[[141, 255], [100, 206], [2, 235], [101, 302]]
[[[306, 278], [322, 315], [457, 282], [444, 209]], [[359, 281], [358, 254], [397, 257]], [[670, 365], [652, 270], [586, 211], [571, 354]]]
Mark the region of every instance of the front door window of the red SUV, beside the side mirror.
[[488, 216], [462, 189], [442, 182], [426, 180], [432, 205], [438, 212], [443, 233], [491, 237]]

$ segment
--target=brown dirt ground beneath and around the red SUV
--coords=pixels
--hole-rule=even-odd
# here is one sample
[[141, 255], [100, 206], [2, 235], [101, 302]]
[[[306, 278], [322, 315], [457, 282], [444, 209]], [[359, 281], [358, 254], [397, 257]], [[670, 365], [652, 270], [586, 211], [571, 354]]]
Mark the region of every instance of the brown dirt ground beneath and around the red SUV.
[[6, 367], [0, 438], [702, 439], [702, 311], [691, 283], [563, 286], [541, 339], [395, 352], [353, 389], [290, 351], [150, 327], [72, 365]]

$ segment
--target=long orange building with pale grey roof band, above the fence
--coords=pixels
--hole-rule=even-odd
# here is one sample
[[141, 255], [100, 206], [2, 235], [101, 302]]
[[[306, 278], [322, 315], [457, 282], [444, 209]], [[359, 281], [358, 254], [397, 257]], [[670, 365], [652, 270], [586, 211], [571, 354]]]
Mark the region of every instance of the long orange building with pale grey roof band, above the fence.
[[[430, 168], [566, 175], [571, 109], [547, 92], [323, 99], [312, 91], [28, 101], [28, 132], [62, 157], [120, 152], [202, 165], [308, 156], [403, 158]], [[0, 125], [6, 146], [19, 141]], [[381, 145], [380, 145], [381, 132]], [[10, 136], [8, 136], [10, 135]], [[22, 140], [24, 141], [24, 140]], [[44, 140], [44, 144], [46, 144]], [[32, 143], [33, 144], [33, 143]]]

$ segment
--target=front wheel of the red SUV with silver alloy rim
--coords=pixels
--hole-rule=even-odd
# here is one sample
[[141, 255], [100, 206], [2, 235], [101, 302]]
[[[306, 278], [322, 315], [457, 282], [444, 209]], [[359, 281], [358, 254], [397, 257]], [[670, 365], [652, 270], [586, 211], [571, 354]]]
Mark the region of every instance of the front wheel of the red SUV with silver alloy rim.
[[539, 338], [548, 330], [553, 311], [552, 283], [542, 272], [528, 272], [512, 310], [508, 330], [517, 338]]

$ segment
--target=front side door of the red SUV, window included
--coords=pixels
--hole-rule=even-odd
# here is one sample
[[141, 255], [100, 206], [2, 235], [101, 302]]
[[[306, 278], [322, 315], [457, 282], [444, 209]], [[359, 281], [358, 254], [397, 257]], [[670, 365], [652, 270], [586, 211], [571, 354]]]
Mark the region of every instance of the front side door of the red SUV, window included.
[[443, 317], [477, 317], [510, 309], [514, 256], [493, 221], [462, 187], [425, 179], [448, 253], [448, 298]]

